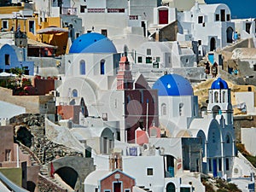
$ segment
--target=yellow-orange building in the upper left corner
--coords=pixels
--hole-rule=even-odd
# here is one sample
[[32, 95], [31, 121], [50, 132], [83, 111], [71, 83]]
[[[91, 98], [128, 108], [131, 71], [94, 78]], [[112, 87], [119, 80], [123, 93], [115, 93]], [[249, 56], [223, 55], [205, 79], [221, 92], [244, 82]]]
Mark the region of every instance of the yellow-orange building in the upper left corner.
[[[31, 38], [44, 44], [57, 47], [55, 55], [64, 55], [67, 48], [68, 32], [38, 34], [38, 30], [49, 26], [61, 27], [60, 17], [42, 18], [31, 9], [24, 6], [0, 7], [0, 28], [2, 32], [25, 32], [27, 38]], [[5, 17], [6, 15], [6, 17]]]

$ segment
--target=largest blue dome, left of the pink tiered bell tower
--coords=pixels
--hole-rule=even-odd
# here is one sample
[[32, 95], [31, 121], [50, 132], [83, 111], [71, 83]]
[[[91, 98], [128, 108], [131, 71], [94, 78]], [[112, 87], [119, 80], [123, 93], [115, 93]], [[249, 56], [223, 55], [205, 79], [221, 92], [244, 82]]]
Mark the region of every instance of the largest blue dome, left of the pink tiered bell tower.
[[109, 38], [97, 32], [90, 32], [76, 38], [69, 53], [117, 53], [117, 50]]

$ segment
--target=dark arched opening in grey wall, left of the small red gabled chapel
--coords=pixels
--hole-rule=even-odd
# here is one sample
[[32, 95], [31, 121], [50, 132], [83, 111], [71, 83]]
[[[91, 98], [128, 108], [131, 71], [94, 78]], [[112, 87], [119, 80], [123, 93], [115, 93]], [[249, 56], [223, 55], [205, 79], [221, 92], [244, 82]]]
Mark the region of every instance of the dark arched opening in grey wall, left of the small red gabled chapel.
[[70, 187], [72, 187], [73, 189], [75, 188], [79, 174], [78, 172], [73, 170], [73, 168], [64, 166], [58, 169], [55, 173], [57, 173], [61, 177], [61, 179]]

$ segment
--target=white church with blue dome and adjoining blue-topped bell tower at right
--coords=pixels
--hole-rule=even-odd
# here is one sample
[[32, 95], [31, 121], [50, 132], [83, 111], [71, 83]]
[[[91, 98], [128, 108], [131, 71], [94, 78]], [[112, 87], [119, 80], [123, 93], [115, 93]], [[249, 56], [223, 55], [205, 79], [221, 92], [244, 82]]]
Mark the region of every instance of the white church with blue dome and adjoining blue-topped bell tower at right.
[[[197, 161], [202, 160], [198, 168], [202, 172], [213, 177], [231, 177], [236, 150], [228, 84], [220, 78], [213, 81], [209, 89], [207, 114], [202, 116], [198, 113], [198, 98], [194, 96], [189, 81], [182, 76], [164, 75], [154, 83], [153, 89], [159, 92], [159, 121], [166, 137], [180, 138], [181, 143], [183, 138], [199, 138], [198, 143], [201, 143], [201, 157], [195, 158], [191, 156], [195, 154], [195, 143], [189, 144], [187, 154], [183, 145], [176, 149], [173, 143], [166, 146], [172, 148], [172, 152], [165, 152], [170, 156], [169, 161], [179, 162], [182, 159], [183, 170], [187, 166], [191, 171], [191, 166], [199, 166]], [[160, 147], [160, 139], [151, 142]], [[177, 168], [174, 170], [178, 172]]]

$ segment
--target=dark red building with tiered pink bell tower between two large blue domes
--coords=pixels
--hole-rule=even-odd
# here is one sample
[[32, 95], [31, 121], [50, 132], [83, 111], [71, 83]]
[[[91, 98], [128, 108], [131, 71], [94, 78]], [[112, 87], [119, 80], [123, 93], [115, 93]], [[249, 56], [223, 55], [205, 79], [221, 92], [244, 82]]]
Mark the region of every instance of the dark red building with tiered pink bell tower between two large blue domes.
[[139, 75], [133, 82], [130, 63], [126, 56], [119, 61], [117, 90], [125, 91], [127, 142], [135, 143], [135, 132], [138, 127], [148, 131], [150, 126], [159, 125], [158, 92], [149, 88], [143, 75]]

